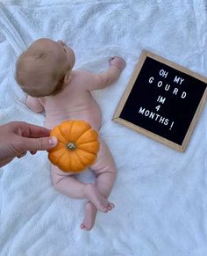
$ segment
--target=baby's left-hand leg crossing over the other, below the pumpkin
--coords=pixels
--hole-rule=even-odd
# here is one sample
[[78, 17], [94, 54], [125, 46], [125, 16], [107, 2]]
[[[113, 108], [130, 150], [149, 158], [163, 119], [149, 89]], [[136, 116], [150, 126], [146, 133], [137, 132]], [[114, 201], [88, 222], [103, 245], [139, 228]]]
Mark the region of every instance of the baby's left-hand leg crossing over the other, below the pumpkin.
[[66, 194], [70, 198], [89, 199], [98, 210], [105, 212], [109, 202], [99, 193], [95, 184], [84, 184], [74, 175], [70, 175], [52, 165], [52, 181], [54, 187], [62, 194]]

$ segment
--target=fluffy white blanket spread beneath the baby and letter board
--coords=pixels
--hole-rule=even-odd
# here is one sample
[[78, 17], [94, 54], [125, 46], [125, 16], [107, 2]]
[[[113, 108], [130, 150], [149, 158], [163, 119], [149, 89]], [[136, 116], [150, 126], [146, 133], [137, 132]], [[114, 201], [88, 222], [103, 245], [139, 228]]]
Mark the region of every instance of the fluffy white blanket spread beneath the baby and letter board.
[[[206, 0], [9, 0], [0, 4], [0, 123], [44, 125], [14, 80], [17, 56], [32, 40], [64, 40], [76, 69], [101, 72], [110, 56], [127, 66], [94, 97], [100, 134], [118, 167], [110, 213], [90, 232], [79, 225], [84, 201], [54, 190], [46, 152], [0, 170], [0, 255], [207, 255], [206, 107], [185, 153], [111, 121], [142, 49], [207, 75]], [[83, 181], [93, 181], [91, 172]]]

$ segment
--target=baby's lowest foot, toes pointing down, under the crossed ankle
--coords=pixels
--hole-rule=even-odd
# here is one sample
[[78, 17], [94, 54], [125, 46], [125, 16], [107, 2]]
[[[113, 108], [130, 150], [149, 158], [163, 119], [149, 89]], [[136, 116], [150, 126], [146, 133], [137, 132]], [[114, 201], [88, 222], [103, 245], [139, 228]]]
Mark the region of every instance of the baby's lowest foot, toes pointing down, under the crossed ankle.
[[85, 204], [85, 216], [80, 226], [82, 230], [89, 231], [93, 228], [96, 219], [96, 213], [96, 207], [90, 201], [88, 201]]

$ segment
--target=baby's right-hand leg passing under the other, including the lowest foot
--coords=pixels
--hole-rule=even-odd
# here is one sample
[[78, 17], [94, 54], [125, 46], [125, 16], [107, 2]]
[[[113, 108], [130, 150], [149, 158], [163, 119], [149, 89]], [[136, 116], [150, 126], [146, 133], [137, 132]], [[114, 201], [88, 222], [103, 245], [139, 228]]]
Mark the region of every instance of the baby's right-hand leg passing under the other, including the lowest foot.
[[[107, 199], [111, 194], [111, 189], [116, 178], [116, 166], [110, 150], [103, 141], [100, 142], [100, 150], [98, 152], [96, 163], [90, 168], [95, 172], [96, 187], [98, 191], [105, 199]], [[107, 205], [107, 211], [112, 208], [114, 208], [114, 204], [109, 202]], [[92, 229], [95, 223], [96, 211], [97, 209], [93, 203], [88, 201], [85, 205], [85, 216], [81, 224], [82, 229]]]

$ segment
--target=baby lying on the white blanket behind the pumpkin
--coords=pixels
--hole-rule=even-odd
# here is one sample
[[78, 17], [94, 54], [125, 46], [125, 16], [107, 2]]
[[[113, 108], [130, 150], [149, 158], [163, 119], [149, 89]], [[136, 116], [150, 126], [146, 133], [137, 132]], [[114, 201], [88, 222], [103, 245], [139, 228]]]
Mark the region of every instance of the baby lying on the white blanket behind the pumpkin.
[[[39, 39], [18, 58], [16, 80], [27, 93], [26, 105], [35, 113], [46, 113], [46, 128], [54, 128], [62, 121], [88, 121], [97, 131], [101, 127], [101, 111], [90, 91], [113, 84], [125, 68], [120, 57], [110, 60], [110, 67], [102, 74], [74, 70], [75, 54], [61, 40]], [[75, 199], [88, 199], [81, 229], [91, 230], [97, 210], [108, 212], [114, 204], [108, 201], [116, 166], [107, 145], [100, 140], [96, 162], [90, 166], [96, 184], [84, 184], [74, 173], [62, 172], [51, 166], [54, 187]]]

